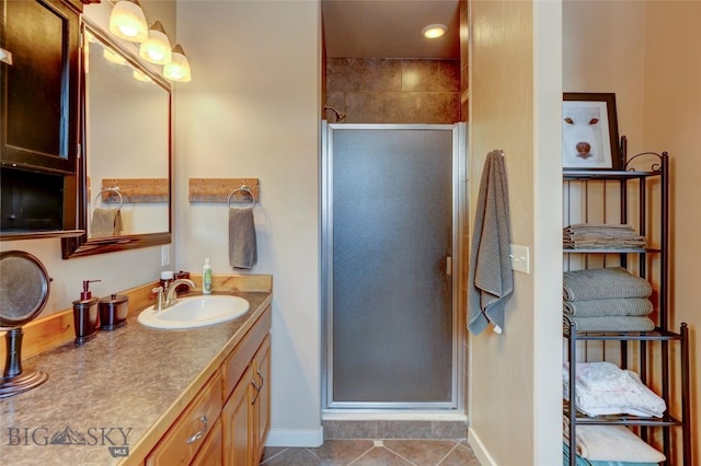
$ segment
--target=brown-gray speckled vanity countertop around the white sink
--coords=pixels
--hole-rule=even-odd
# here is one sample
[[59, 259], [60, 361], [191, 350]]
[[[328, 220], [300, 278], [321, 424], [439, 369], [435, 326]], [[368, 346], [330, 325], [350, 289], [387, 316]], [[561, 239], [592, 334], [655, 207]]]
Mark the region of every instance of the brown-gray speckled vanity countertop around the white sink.
[[272, 300], [269, 292], [234, 294], [251, 307], [228, 323], [159, 330], [131, 312], [127, 325], [81, 347], [24, 361], [25, 372], [44, 371], [48, 381], [0, 399], [0, 463], [140, 464]]

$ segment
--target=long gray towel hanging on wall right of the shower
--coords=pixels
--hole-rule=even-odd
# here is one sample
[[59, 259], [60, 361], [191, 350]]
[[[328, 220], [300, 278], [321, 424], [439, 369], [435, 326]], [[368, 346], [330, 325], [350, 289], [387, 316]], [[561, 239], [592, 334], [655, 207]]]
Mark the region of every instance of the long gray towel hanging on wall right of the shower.
[[490, 322], [497, 333], [504, 328], [504, 307], [514, 291], [508, 215], [504, 158], [492, 151], [482, 171], [470, 251], [468, 328], [475, 335]]

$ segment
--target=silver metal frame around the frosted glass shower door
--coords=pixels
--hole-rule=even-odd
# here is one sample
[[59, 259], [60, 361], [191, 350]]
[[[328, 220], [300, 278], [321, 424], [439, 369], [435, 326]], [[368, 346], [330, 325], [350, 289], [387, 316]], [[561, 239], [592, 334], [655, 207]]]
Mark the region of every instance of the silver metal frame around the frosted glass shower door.
[[[450, 260], [452, 336], [451, 336], [451, 396], [450, 401], [335, 401], [333, 399], [333, 133], [343, 130], [440, 130], [452, 132], [452, 237]], [[322, 325], [322, 413], [464, 413], [466, 391], [463, 348], [464, 330], [464, 282], [467, 279], [467, 125], [434, 124], [329, 124], [321, 127], [321, 325]]]

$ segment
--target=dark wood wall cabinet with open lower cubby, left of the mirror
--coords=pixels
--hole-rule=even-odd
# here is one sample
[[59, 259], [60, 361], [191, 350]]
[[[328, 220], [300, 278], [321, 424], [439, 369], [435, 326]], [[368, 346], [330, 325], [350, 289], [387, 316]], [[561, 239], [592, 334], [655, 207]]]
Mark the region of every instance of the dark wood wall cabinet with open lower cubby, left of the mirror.
[[[0, 238], [70, 236], [80, 156], [80, 13], [61, 0], [1, 1]], [[3, 54], [4, 56], [4, 54]]]

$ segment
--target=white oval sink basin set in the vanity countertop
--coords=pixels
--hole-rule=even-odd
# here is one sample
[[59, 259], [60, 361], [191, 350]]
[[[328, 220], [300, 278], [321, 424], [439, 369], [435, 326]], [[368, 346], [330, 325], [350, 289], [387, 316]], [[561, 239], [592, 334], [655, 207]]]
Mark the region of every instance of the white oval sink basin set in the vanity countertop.
[[195, 328], [232, 321], [249, 311], [243, 298], [229, 295], [200, 295], [179, 298], [175, 304], [156, 311], [149, 307], [137, 319], [153, 328]]

